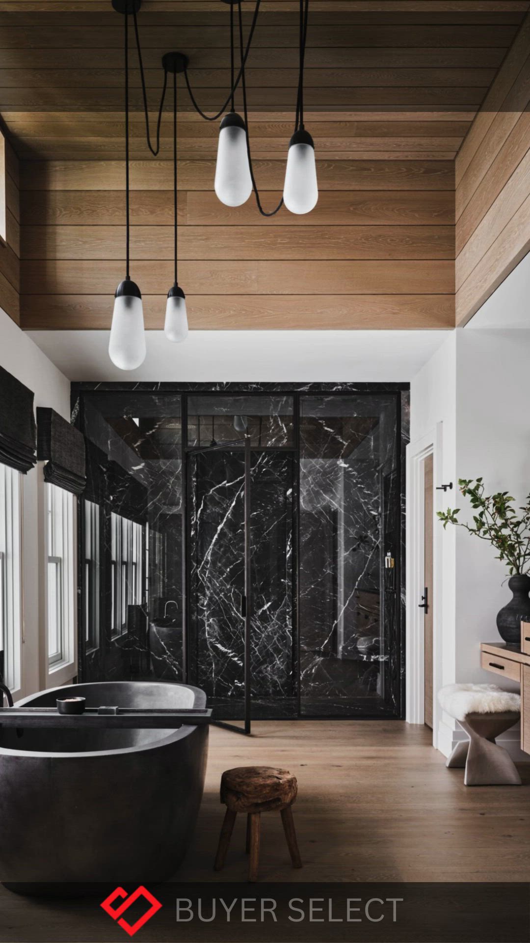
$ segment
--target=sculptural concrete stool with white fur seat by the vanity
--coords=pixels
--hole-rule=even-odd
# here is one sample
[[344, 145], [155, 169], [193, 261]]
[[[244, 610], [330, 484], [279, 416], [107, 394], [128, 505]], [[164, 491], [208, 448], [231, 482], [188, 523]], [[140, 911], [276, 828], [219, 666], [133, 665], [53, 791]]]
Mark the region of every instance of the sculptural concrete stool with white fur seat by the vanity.
[[520, 695], [496, 685], [448, 685], [439, 690], [438, 699], [469, 736], [456, 744], [448, 769], [465, 767], [465, 786], [521, 786], [513, 760], [495, 743], [519, 720]]

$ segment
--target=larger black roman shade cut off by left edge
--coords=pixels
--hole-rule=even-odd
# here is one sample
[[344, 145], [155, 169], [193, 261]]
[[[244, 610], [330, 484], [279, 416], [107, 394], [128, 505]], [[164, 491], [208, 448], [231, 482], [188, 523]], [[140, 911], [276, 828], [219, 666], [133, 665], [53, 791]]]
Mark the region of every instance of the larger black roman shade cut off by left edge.
[[0, 367], [0, 462], [29, 472], [37, 461], [33, 392]]

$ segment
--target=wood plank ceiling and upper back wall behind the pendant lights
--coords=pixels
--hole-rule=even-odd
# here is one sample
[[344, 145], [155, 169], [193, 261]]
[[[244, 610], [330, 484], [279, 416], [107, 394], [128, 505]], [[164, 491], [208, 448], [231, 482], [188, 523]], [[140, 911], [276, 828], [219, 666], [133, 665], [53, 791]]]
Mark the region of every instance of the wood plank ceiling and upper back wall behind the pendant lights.
[[[190, 326], [454, 325], [455, 155], [529, 6], [312, 0], [306, 127], [321, 195], [306, 217], [283, 210], [263, 220], [253, 200], [238, 209], [217, 201], [218, 123], [191, 110], [179, 82], [179, 281]], [[282, 187], [292, 129], [297, 9], [263, 0], [248, 62], [267, 207]], [[248, 27], [252, 13], [244, 16]], [[143, 0], [139, 25], [152, 128], [160, 60], [172, 48], [189, 56], [201, 106], [219, 108], [228, 8]], [[159, 328], [173, 281], [172, 97], [155, 161], [137, 68], [131, 84], [133, 277], [147, 326]], [[22, 161], [22, 325], [108, 327], [124, 258], [123, 21], [109, 0], [0, 0], [0, 113]]]

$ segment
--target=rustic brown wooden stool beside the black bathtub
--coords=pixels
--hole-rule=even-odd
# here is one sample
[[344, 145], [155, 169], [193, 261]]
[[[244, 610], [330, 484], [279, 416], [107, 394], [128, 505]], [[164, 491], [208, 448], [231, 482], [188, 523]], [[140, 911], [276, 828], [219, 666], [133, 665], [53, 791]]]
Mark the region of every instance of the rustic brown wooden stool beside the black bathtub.
[[219, 836], [214, 869], [220, 871], [224, 867], [224, 859], [238, 812], [246, 812], [247, 816], [246, 852], [250, 854], [249, 881], [257, 881], [262, 812], [281, 814], [292, 867], [302, 868], [291, 809], [297, 792], [296, 777], [288, 769], [273, 769], [273, 767], [225, 769], [221, 777], [221, 802], [226, 805], [226, 812]]

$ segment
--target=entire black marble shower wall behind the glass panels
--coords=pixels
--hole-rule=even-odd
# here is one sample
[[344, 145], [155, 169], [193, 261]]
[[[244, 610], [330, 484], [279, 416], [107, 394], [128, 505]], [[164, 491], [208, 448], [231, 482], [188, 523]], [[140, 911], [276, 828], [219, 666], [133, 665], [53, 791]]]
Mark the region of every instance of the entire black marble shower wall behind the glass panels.
[[[406, 406], [403, 384], [75, 385], [101, 523], [97, 638], [81, 527], [83, 680], [187, 679], [242, 717], [248, 435], [253, 717], [400, 716]], [[142, 528], [120, 635], [112, 513]]]

